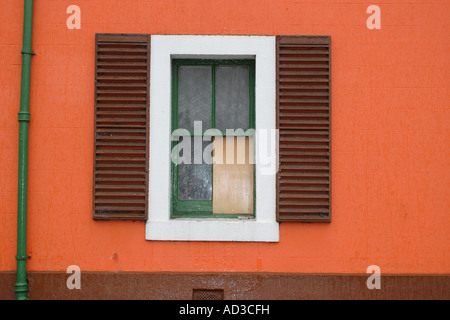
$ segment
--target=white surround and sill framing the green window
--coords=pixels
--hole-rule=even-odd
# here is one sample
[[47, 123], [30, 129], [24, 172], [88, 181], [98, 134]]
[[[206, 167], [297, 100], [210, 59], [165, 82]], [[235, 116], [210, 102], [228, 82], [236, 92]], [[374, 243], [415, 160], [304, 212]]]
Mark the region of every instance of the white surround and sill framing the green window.
[[[264, 174], [256, 155], [254, 219], [170, 218], [171, 60], [173, 58], [254, 58], [256, 130], [275, 129], [275, 37], [151, 37], [149, 214], [146, 240], [278, 242], [275, 174]], [[276, 146], [270, 145], [276, 163]]]

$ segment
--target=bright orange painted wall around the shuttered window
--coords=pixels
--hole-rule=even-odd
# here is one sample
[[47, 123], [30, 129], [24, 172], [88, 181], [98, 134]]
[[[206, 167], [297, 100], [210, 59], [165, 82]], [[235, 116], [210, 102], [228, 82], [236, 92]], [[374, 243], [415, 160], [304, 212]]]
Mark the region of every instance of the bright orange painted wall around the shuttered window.
[[[29, 270], [450, 272], [450, 1], [429, 2], [35, 1]], [[66, 28], [72, 4], [81, 30]], [[15, 269], [22, 19], [23, 1], [0, 1], [0, 270]], [[93, 221], [96, 32], [331, 35], [332, 223], [282, 223], [268, 244], [150, 242], [142, 222]]]

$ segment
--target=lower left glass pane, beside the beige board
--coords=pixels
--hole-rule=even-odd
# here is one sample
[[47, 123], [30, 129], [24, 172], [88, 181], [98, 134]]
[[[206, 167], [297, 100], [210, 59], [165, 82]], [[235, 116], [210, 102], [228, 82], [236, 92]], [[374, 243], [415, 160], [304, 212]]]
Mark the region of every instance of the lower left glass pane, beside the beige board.
[[[191, 140], [191, 164], [178, 166], [178, 199], [211, 200], [212, 141], [202, 141], [202, 137], [184, 137], [183, 139]], [[198, 139], [197, 144], [194, 143], [194, 139]]]

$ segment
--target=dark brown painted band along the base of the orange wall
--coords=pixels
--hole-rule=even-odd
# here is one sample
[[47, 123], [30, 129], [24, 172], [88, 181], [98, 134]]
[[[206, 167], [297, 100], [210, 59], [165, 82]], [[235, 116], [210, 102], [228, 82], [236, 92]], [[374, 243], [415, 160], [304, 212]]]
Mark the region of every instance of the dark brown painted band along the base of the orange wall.
[[[15, 272], [0, 272], [0, 300], [14, 299]], [[65, 272], [29, 272], [32, 300], [190, 300], [193, 290], [221, 289], [225, 300], [448, 300], [450, 276], [369, 274], [82, 272], [81, 289], [69, 290]]]

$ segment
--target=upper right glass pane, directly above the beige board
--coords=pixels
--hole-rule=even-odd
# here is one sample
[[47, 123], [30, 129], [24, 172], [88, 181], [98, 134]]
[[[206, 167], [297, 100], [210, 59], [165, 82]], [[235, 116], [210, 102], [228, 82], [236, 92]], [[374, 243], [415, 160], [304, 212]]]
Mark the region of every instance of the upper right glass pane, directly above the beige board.
[[249, 68], [216, 68], [216, 128], [249, 128]]

